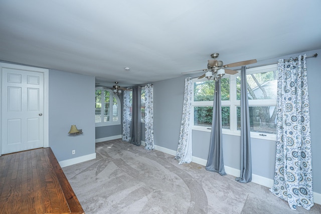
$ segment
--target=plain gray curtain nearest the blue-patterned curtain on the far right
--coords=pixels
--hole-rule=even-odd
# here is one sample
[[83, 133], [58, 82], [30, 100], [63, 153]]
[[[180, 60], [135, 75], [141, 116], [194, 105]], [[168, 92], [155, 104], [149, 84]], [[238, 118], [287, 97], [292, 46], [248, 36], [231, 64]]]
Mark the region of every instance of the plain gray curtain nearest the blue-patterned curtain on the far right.
[[250, 114], [245, 66], [241, 69], [241, 174], [235, 180], [242, 183], [252, 180]]

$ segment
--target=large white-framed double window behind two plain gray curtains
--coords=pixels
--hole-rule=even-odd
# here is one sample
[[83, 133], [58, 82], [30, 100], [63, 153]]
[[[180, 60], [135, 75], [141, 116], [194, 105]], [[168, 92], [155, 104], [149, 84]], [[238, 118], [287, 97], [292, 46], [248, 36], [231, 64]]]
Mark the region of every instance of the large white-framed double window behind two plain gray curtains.
[[[247, 69], [251, 137], [275, 140], [277, 66]], [[224, 134], [240, 135], [240, 72], [221, 80], [222, 127]], [[193, 129], [210, 131], [215, 81], [194, 80]]]

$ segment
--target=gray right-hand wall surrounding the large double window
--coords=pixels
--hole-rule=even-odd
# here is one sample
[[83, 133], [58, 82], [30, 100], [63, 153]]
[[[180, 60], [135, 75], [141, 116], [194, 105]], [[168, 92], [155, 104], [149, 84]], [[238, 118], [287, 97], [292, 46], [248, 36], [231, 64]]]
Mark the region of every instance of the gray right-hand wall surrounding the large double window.
[[[319, 109], [321, 106], [321, 84], [319, 68], [321, 68], [321, 50], [304, 52], [307, 56], [317, 53], [317, 58], [307, 59], [310, 125], [312, 144], [313, 191], [321, 193], [321, 167], [316, 167], [321, 162], [321, 143], [318, 140], [318, 122], [321, 121]], [[255, 65], [276, 63], [278, 59], [297, 57], [295, 53], [283, 57], [258, 62]], [[197, 74], [191, 77], [199, 76]], [[188, 76], [185, 76], [188, 77]], [[154, 82], [154, 138], [155, 144], [168, 149], [176, 150], [178, 145], [180, 124], [183, 110], [185, 77]], [[193, 156], [202, 159], [208, 158], [210, 133], [193, 131]], [[252, 170], [256, 175], [273, 179], [275, 163], [275, 141], [251, 139]], [[240, 169], [240, 137], [223, 135], [224, 164]]]

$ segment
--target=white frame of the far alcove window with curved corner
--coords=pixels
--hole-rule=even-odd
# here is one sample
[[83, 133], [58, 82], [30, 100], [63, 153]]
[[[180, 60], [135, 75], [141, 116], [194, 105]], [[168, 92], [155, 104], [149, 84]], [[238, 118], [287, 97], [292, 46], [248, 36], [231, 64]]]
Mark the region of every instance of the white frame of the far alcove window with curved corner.
[[[111, 109], [111, 111], [110, 111], [111, 114], [112, 114], [112, 112], [113, 112], [113, 110], [112, 110], [112, 109], [113, 109], [113, 108], [112, 108], [112, 105], [113, 105], [113, 97], [116, 98], [117, 104], [118, 104], [118, 109], [117, 109], [118, 120], [117, 120], [117, 121], [107, 121], [107, 122], [104, 122], [104, 121], [102, 121], [102, 122], [96, 122], [96, 121], [95, 121], [95, 126], [96, 126], [96, 127], [101, 127], [101, 126], [120, 125], [120, 120], [121, 120], [121, 103], [120, 103], [119, 97], [118, 97], [116, 94], [114, 94], [113, 91], [110, 90], [110, 89], [105, 89], [105, 88], [103, 88], [103, 87], [96, 87], [96, 88], [95, 88], [95, 91], [96, 91], [96, 90], [109, 91], [109, 96], [110, 96], [109, 100], [111, 100], [111, 102], [109, 102], [109, 105], [111, 105], [111, 107], [109, 107], [109, 109]], [[101, 95], [102, 95], [101, 100], [104, 101], [104, 100], [105, 100], [105, 99], [104, 99], [104, 93], [101, 93]], [[95, 100], [95, 102], [96, 102], [96, 100]], [[104, 103], [101, 103], [101, 117], [102, 117], [102, 118], [104, 117], [104, 116], [103, 116], [103, 114], [104, 114], [104, 108], [105, 108]], [[110, 116], [110, 118], [112, 119], [112, 116]]]

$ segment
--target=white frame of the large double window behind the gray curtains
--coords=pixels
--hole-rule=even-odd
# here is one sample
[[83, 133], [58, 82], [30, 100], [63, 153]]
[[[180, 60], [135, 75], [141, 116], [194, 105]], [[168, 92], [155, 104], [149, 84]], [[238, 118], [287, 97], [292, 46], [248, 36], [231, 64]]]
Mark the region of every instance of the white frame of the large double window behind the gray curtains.
[[[260, 66], [256, 68], [250, 68], [246, 70], [246, 74], [255, 74], [255, 73], [262, 73], [267, 72], [271, 70], [276, 70], [277, 64], [273, 65], [267, 65], [267, 66]], [[221, 106], [229, 106], [230, 107], [230, 129], [222, 129], [223, 134], [227, 135], [236, 135], [241, 136], [241, 131], [237, 130], [237, 113], [236, 113], [236, 107], [240, 106], [241, 101], [237, 100], [237, 94], [236, 94], [236, 78], [241, 75], [240, 70], [238, 70], [238, 73], [235, 75], [224, 75], [223, 78], [230, 78], [230, 100], [223, 100], [221, 101]], [[207, 81], [206, 78], [203, 79], [193, 79], [194, 82], [199, 81]], [[193, 90], [193, 98], [194, 98], [194, 90]], [[206, 126], [197, 126], [194, 125], [194, 107], [198, 106], [212, 106], [213, 107], [214, 102], [213, 101], [196, 101], [194, 102], [194, 99], [192, 101], [192, 118], [193, 118], [193, 125], [192, 130], [198, 130], [198, 131], [206, 131], [211, 132], [211, 127]], [[248, 102], [249, 106], [276, 106], [276, 99], [266, 99], [266, 100], [249, 100]], [[262, 135], [263, 134], [263, 135]], [[257, 138], [257, 139], [265, 139], [265, 140], [276, 140], [276, 134], [270, 134], [270, 133], [259, 133], [259, 132], [251, 132], [251, 138]]]

